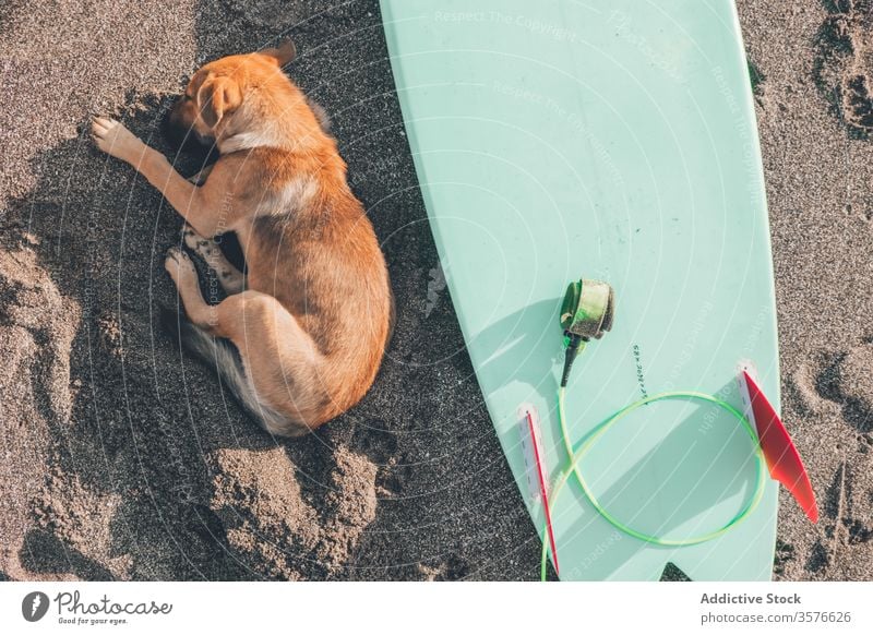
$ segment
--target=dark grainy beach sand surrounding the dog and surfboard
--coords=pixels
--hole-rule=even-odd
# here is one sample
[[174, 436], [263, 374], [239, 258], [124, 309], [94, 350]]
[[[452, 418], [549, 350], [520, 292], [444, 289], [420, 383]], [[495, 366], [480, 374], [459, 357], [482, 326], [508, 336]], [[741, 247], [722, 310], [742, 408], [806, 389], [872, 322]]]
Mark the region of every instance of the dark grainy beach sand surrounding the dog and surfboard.
[[[873, 577], [870, 4], [739, 2], [784, 412], [823, 503], [812, 527], [782, 500], [788, 579]], [[171, 155], [158, 121], [182, 79], [284, 34], [301, 52], [294, 79], [333, 117], [399, 309], [372, 393], [287, 443], [180, 361], [155, 314], [175, 302], [162, 262], [178, 218], [83, 134], [89, 113], [116, 113]], [[539, 541], [441, 288], [376, 0], [7, 0], [0, 64], [0, 576], [537, 577]]]

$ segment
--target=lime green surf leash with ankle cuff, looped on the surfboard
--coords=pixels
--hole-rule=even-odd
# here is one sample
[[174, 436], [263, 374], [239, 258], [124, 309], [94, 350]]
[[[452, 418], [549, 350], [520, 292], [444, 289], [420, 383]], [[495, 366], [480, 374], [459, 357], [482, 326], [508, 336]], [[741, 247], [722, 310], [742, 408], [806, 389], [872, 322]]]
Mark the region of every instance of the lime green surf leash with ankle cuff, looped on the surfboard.
[[[757, 433], [755, 432], [753, 424], [749, 421], [745, 415], [740, 412], [729, 403], [713, 395], [690, 391], [671, 391], [651, 395], [629, 404], [618, 412], [608, 417], [585, 436], [577, 450], [573, 450], [573, 442], [570, 439], [570, 431], [566, 427], [566, 416], [564, 411], [564, 396], [566, 392], [566, 384], [570, 379], [570, 371], [576, 356], [585, 348], [585, 344], [587, 344], [591, 338], [599, 339], [603, 336], [603, 333], [612, 327], [613, 312], [614, 296], [609, 285], [596, 280], [579, 280], [578, 283], [572, 283], [567, 288], [566, 296], [564, 297], [564, 303], [561, 309], [561, 326], [564, 327], [565, 345], [564, 372], [561, 379], [561, 386], [558, 388], [558, 422], [561, 429], [561, 438], [563, 440], [564, 450], [567, 454], [567, 463], [564, 465], [559, 472], [558, 478], [554, 480], [554, 484], [549, 493], [548, 506], [555, 508], [555, 503], [561, 494], [561, 490], [572, 475], [575, 477], [576, 482], [582, 488], [582, 491], [585, 493], [585, 496], [588, 499], [595, 511], [597, 511], [600, 516], [602, 516], [618, 530], [626, 534], [627, 536], [636, 538], [637, 540], [661, 547], [691, 547], [693, 544], [699, 544], [702, 542], [713, 540], [714, 538], [718, 538], [739, 525], [752, 514], [764, 495], [764, 486], [767, 474], [767, 470], [765, 469], [764, 454], [761, 451]], [[629, 524], [623, 523], [610, 514], [609, 511], [597, 500], [597, 496], [591, 491], [590, 487], [588, 487], [588, 483], [582, 476], [582, 470], [579, 469], [582, 459], [585, 458], [597, 440], [602, 436], [613, 424], [618, 423], [627, 415], [637, 410], [638, 408], [642, 408], [643, 406], [646, 406], [647, 404], [668, 399], [693, 399], [705, 402], [717, 406], [731, 415], [743, 427], [746, 434], [749, 434], [749, 438], [754, 446], [756, 459], [755, 490], [745, 501], [745, 504], [737, 513], [737, 515], [734, 515], [719, 529], [681, 540], [645, 534], [634, 529]], [[543, 528], [543, 537], [545, 536], [546, 530]], [[549, 543], [543, 539], [540, 559], [540, 579], [543, 582], [546, 580], [548, 560]]]

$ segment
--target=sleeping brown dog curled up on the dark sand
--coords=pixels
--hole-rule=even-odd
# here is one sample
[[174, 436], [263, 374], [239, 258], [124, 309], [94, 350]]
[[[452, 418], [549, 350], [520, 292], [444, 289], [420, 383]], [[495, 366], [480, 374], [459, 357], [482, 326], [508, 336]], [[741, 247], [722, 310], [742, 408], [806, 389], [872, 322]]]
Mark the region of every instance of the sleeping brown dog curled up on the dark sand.
[[[92, 124], [99, 148], [131, 164], [181, 214], [186, 243], [228, 293], [207, 304], [193, 262], [180, 249], [168, 252], [165, 267], [190, 320], [183, 342], [217, 362], [268, 431], [290, 436], [360, 400], [393, 315], [385, 260], [336, 142], [282, 72], [294, 56], [286, 41], [211, 62], [191, 79], [171, 119], [218, 147], [201, 185], [121, 123]], [[225, 231], [239, 237], [246, 275], [214, 240]]]

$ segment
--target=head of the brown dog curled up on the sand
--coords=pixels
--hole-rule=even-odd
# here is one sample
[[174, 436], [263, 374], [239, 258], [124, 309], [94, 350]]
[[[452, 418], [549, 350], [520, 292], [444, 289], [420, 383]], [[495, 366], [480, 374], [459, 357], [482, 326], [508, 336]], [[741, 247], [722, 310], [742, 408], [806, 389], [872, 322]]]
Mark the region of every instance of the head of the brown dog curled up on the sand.
[[220, 58], [198, 70], [186, 86], [184, 95], [170, 110], [168, 121], [172, 136], [179, 140], [192, 134], [201, 143], [212, 143], [232, 129], [234, 115], [254, 89], [288, 80], [282, 67], [297, 55], [287, 39], [277, 48]]

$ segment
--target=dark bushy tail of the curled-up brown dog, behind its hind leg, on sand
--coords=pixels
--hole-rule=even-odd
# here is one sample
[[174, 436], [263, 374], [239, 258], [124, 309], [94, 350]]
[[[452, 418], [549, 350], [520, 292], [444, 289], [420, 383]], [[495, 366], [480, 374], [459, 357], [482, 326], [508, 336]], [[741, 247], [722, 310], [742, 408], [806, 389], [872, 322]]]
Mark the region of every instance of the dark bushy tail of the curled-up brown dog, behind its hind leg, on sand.
[[237, 348], [227, 339], [214, 337], [192, 324], [182, 313], [162, 307], [160, 321], [181, 346], [215, 370], [222, 383], [230, 388], [236, 400], [261, 426], [273, 434], [302, 436], [310, 432], [306, 426], [291, 421], [258, 398]]

